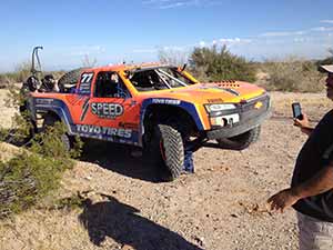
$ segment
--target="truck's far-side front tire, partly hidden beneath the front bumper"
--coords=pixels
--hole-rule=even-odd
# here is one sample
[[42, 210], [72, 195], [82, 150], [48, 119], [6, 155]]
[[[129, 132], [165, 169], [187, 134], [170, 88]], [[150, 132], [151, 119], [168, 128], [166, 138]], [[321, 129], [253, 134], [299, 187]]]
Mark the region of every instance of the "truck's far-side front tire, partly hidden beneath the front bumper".
[[222, 149], [243, 150], [251, 143], [258, 141], [261, 127], [258, 126], [244, 133], [231, 138], [218, 139], [219, 147]]

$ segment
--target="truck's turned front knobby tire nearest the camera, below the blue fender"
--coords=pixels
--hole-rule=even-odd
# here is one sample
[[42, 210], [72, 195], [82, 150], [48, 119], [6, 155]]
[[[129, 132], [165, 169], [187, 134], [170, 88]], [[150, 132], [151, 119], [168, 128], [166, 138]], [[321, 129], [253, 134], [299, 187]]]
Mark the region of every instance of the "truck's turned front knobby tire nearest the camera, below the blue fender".
[[184, 147], [181, 133], [170, 124], [157, 124], [149, 147], [149, 158], [159, 168], [163, 181], [175, 180], [183, 169]]

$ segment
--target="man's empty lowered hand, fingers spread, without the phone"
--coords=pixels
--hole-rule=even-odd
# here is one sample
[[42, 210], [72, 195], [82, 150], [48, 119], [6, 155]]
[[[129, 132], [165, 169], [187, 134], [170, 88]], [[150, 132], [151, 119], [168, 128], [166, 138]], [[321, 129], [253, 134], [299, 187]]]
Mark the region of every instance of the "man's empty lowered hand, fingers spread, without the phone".
[[295, 196], [291, 189], [284, 189], [268, 200], [271, 211], [284, 212], [284, 209], [293, 206], [300, 198]]

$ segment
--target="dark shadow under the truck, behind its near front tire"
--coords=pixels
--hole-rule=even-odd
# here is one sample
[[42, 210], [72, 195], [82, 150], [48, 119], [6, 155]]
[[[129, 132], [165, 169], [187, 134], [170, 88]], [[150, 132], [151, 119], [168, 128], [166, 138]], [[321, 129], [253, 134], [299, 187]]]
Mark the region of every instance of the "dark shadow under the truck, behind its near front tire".
[[87, 140], [79, 160], [99, 164], [120, 174], [150, 182], [161, 182], [158, 168], [148, 163], [140, 149], [105, 141]]

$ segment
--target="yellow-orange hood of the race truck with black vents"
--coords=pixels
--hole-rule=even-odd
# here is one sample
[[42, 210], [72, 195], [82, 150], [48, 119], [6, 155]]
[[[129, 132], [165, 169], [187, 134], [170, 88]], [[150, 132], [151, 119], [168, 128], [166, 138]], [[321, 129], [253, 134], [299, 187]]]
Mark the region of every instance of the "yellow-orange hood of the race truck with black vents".
[[150, 92], [150, 97], [199, 103], [238, 103], [261, 96], [264, 89], [242, 81], [196, 83], [189, 87]]

